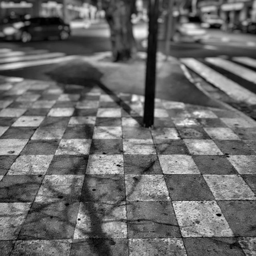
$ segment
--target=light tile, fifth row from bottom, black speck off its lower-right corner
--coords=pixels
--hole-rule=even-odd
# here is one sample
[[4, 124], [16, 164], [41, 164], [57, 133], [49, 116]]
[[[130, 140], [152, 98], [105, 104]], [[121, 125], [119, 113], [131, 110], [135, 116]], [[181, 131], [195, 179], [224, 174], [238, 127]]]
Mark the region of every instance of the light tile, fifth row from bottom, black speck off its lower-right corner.
[[212, 140], [184, 140], [190, 154], [194, 155], [223, 155]]

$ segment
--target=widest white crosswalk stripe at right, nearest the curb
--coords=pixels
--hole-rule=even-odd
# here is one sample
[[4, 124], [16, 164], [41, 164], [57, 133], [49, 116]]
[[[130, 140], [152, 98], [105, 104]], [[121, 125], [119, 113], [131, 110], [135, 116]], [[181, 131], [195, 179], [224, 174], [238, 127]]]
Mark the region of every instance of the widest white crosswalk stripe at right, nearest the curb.
[[226, 76], [216, 72], [202, 62], [194, 58], [181, 58], [180, 61], [231, 98], [248, 104], [256, 104], [256, 94], [226, 78]]

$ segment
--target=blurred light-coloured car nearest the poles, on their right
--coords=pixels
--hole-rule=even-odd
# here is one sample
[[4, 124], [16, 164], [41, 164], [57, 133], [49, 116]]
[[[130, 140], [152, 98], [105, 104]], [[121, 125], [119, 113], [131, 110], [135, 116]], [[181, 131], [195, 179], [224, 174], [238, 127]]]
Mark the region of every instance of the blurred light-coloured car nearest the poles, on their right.
[[207, 38], [207, 33], [201, 26], [201, 20], [197, 16], [178, 16], [172, 41], [174, 42], [200, 42]]

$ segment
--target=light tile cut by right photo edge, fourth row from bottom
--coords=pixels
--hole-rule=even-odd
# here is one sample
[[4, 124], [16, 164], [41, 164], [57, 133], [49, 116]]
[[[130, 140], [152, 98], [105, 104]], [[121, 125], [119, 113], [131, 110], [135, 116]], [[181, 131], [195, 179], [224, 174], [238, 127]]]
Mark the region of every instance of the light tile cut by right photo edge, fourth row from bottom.
[[256, 174], [256, 156], [230, 156], [228, 161], [239, 174]]

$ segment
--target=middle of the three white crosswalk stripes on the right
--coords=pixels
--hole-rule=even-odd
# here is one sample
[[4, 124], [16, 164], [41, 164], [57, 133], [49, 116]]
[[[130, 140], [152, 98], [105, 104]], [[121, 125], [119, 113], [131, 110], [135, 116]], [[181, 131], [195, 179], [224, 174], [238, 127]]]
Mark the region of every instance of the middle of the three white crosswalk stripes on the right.
[[256, 84], [256, 72], [235, 64], [229, 60], [223, 60], [221, 58], [205, 58], [205, 60], [215, 66], [223, 68], [241, 78]]

